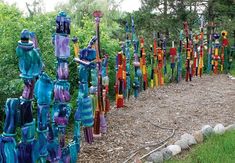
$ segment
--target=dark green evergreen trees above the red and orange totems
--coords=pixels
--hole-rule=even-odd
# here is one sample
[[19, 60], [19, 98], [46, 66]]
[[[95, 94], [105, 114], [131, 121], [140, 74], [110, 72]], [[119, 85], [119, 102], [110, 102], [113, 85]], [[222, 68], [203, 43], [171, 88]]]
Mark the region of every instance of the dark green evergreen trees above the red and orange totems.
[[[231, 34], [234, 30], [234, 0], [141, 0], [141, 2], [140, 10], [132, 15], [135, 15], [139, 34], [151, 38], [149, 43], [152, 42], [154, 31], [169, 35], [170, 41], [178, 40], [178, 33], [183, 28], [184, 21], [188, 21], [193, 31], [199, 33], [199, 19], [202, 15], [206, 23], [217, 24], [217, 32], [226, 29]], [[209, 27], [207, 29], [209, 31]]]

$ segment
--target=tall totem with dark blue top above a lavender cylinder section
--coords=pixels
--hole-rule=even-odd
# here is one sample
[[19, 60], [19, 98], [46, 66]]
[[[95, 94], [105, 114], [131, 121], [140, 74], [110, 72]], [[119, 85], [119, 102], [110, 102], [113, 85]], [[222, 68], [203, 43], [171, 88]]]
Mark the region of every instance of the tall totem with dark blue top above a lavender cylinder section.
[[[63, 159], [65, 155], [65, 129], [68, 124], [71, 108], [70, 84], [68, 58], [69, 48], [70, 18], [65, 12], [60, 12], [56, 17], [56, 33], [54, 35], [55, 57], [57, 59], [56, 74], [54, 83], [54, 106], [52, 109], [52, 133], [49, 135], [51, 154], [50, 161]], [[53, 147], [54, 146], [56, 147]], [[53, 150], [52, 150], [53, 149]], [[52, 152], [54, 151], [54, 152]]]

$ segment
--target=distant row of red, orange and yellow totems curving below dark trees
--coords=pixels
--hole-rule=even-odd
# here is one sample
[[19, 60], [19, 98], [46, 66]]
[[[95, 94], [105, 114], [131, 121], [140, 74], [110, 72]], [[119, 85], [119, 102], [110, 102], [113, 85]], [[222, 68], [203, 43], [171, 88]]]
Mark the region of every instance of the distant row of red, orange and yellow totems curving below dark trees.
[[[164, 85], [164, 78], [167, 74], [167, 56], [170, 58], [171, 75], [170, 81], [180, 82], [182, 80], [182, 66], [183, 66], [183, 48], [185, 49], [185, 80], [192, 81], [193, 76], [202, 76], [205, 59], [205, 45], [204, 45], [204, 20], [200, 20], [200, 34], [192, 33], [189, 29], [188, 23], [184, 22], [184, 30], [180, 31], [178, 48], [174, 46], [169, 49], [166, 48], [166, 36], [160, 32], [154, 33], [153, 46], [151, 46], [151, 55], [148, 71], [147, 54], [144, 48], [144, 38], [137, 38], [135, 33], [134, 20], [132, 18], [132, 31], [130, 32], [128, 24], [126, 24], [126, 41], [122, 45], [122, 51], [116, 55], [116, 106], [122, 108], [125, 99], [129, 98], [131, 91], [131, 77], [130, 77], [130, 46], [134, 47], [134, 79], [133, 90], [134, 96], [137, 98], [139, 92], [147, 89], [148, 85], [151, 88]], [[183, 46], [183, 34], [185, 43]], [[211, 31], [208, 40], [207, 50], [207, 73], [213, 71], [214, 74], [220, 72], [229, 72], [232, 65], [233, 53], [235, 52], [235, 31], [234, 31], [234, 45], [231, 46], [229, 52], [229, 41], [227, 38], [228, 32], [223, 30], [221, 35], [217, 32]], [[132, 36], [132, 38], [130, 37]], [[221, 38], [221, 39], [220, 39]], [[132, 40], [131, 40], [132, 39]], [[221, 42], [220, 42], [221, 40]], [[140, 45], [140, 48], [139, 48]], [[220, 69], [219, 69], [220, 68]], [[148, 77], [148, 72], [150, 75]], [[176, 75], [174, 75], [176, 73]], [[149, 80], [150, 79], [150, 80]], [[150, 84], [148, 82], [150, 81]]]

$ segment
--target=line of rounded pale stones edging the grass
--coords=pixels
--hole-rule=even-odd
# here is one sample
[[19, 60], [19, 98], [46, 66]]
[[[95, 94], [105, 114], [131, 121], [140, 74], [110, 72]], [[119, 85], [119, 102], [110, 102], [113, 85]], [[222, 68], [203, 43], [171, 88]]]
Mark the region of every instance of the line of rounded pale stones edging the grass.
[[173, 156], [180, 154], [182, 150], [189, 149], [192, 145], [203, 143], [205, 138], [212, 134], [222, 135], [226, 131], [232, 130], [235, 130], [235, 124], [224, 127], [223, 124], [219, 123], [214, 128], [210, 125], [204, 125], [201, 130], [195, 131], [192, 135], [185, 133], [174, 144], [150, 154], [145, 163], [163, 163], [164, 160], [169, 160]]

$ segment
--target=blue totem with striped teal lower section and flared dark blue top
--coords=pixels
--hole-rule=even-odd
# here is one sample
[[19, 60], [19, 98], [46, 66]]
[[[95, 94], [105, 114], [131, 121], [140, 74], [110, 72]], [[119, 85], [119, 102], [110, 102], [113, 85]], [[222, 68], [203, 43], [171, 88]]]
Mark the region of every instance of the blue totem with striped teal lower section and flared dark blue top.
[[[88, 143], [93, 142], [94, 115], [92, 110], [96, 108], [97, 101], [97, 71], [96, 71], [96, 51], [92, 49], [92, 45], [95, 43], [96, 37], [93, 37], [89, 42], [87, 48], [80, 51], [79, 58], [75, 58], [75, 61], [79, 63], [78, 76], [79, 76], [79, 90], [77, 98], [77, 110], [75, 113], [75, 126], [74, 139], [79, 145], [80, 141], [80, 126], [84, 128], [84, 137]], [[91, 70], [91, 84], [90, 96], [88, 88], [88, 76]]]

